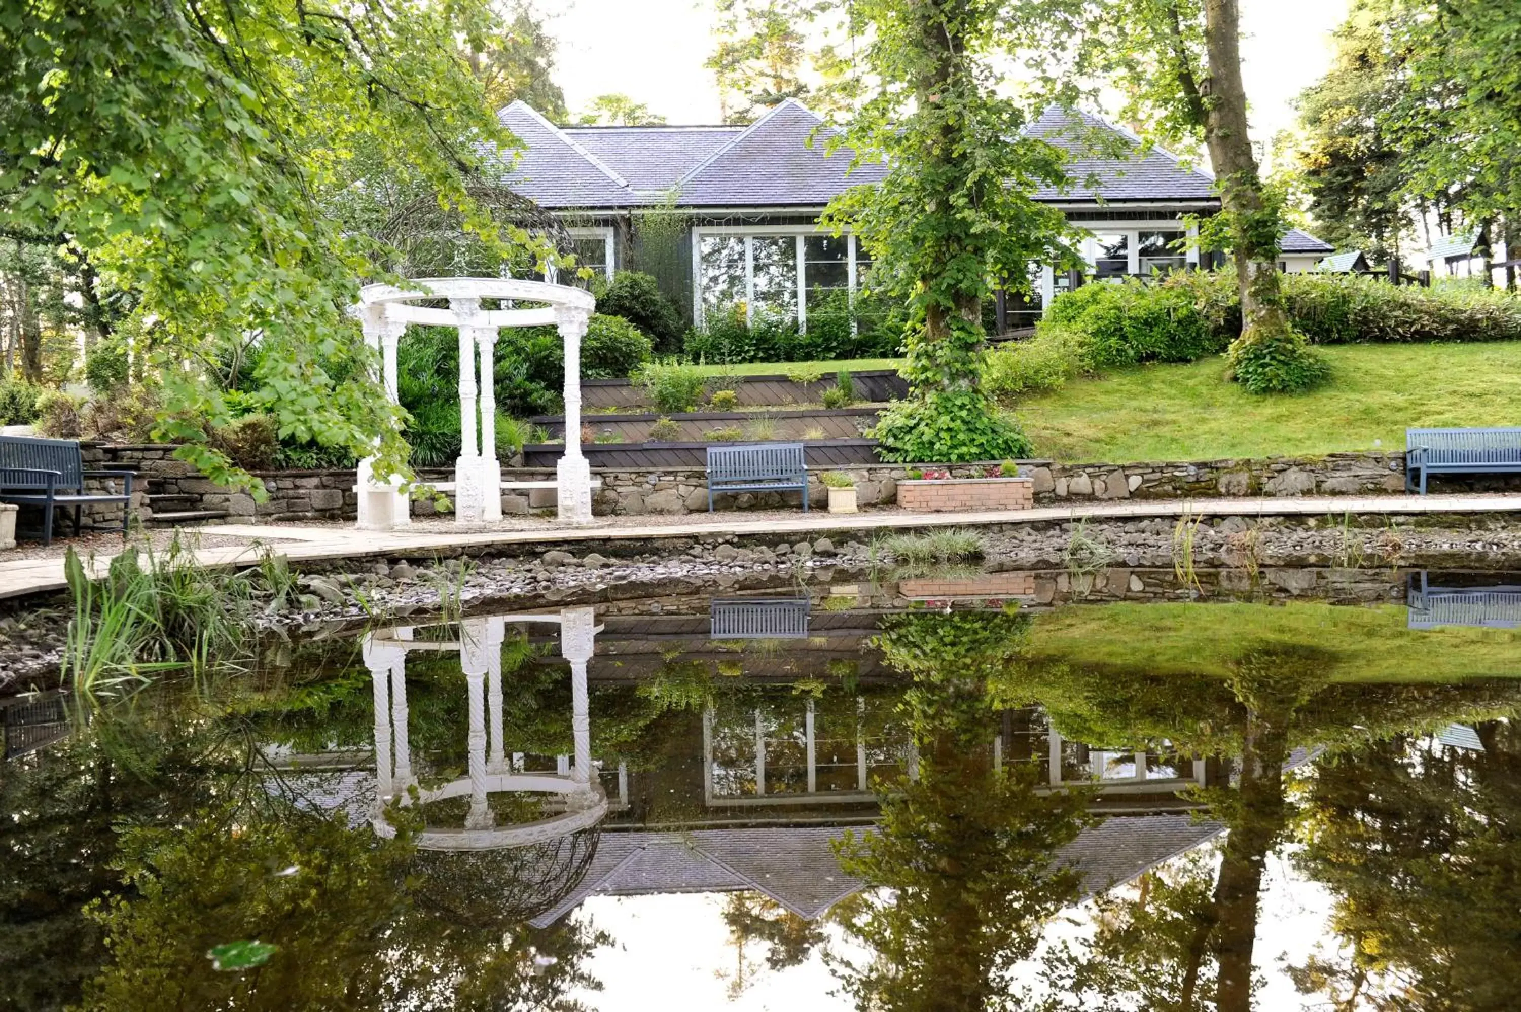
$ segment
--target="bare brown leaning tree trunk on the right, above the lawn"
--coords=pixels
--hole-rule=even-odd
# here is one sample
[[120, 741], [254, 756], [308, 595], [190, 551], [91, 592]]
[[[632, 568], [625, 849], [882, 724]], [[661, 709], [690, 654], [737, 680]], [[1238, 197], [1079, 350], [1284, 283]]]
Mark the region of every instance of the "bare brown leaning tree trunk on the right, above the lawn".
[[1220, 205], [1230, 216], [1237, 286], [1241, 291], [1241, 336], [1288, 333], [1288, 315], [1278, 285], [1278, 213], [1262, 196], [1262, 180], [1247, 134], [1237, 0], [1205, 0], [1205, 49], [1209, 56], [1209, 76], [1200, 85], [1205, 143], [1220, 180]]

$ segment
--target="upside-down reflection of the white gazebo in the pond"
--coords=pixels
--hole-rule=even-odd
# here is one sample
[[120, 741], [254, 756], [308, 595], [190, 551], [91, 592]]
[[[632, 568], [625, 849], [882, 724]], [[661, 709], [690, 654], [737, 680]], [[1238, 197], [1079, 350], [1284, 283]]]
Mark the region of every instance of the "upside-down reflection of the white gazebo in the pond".
[[[508, 622], [560, 625], [560, 653], [570, 662], [570, 735], [573, 755], [558, 756], [554, 773], [523, 769], [523, 756], [508, 755], [502, 723], [502, 642]], [[607, 793], [592, 764], [592, 723], [587, 697], [587, 662], [596, 650], [595, 612], [567, 607], [534, 615], [467, 618], [456, 641], [414, 639], [412, 629], [395, 627], [365, 635], [365, 665], [374, 686], [376, 800], [371, 825], [380, 835], [395, 834], [386, 820], [391, 802], [427, 804], [470, 797], [464, 826], [433, 826], [417, 835], [424, 851], [493, 851], [531, 846], [595, 826], [608, 810]], [[468, 692], [468, 770], [465, 776], [421, 788], [412, 772], [408, 741], [406, 654], [417, 650], [459, 651]], [[557, 814], [520, 825], [496, 825], [491, 794], [535, 793], [555, 799]]]

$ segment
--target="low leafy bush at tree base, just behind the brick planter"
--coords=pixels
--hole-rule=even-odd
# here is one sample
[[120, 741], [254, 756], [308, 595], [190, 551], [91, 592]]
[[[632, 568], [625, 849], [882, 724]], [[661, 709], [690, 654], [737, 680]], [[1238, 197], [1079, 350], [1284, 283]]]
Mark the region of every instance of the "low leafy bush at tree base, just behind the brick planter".
[[987, 409], [980, 390], [943, 390], [902, 400], [878, 418], [872, 434], [885, 461], [960, 463], [1030, 457], [1030, 437]]

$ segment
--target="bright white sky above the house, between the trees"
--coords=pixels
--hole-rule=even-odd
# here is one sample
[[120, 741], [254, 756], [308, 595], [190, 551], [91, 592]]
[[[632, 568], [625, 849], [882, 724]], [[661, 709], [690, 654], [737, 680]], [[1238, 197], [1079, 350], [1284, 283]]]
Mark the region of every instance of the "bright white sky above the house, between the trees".
[[[546, 9], [549, 5], [541, 5]], [[709, 0], [567, 0], [554, 5], [560, 70], [570, 111], [622, 91], [672, 123], [716, 123], [718, 90], [703, 68], [713, 49]], [[1346, 0], [1241, 0], [1243, 72], [1253, 137], [1290, 126], [1290, 100], [1325, 73], [1329, 30]]]

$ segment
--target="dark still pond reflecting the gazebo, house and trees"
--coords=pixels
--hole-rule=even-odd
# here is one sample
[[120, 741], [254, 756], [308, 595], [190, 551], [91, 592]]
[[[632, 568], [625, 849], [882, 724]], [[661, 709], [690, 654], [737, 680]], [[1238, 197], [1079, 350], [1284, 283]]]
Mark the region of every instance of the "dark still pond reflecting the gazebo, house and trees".
[[0, 1007], [1521, 1007], [1521, 577], [1045, 578], [3, 700]]

